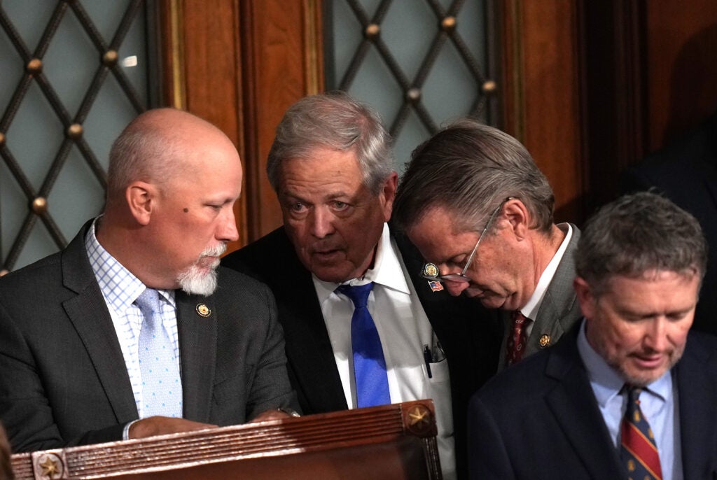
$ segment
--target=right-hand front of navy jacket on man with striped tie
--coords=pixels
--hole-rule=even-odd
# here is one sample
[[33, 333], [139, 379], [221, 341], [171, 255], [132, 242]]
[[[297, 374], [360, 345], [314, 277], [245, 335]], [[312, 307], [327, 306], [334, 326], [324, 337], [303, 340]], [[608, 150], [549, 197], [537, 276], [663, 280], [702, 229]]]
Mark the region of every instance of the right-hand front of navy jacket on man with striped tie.
[[717, 478], [717, 355], [688, 337], [677, 371], [684, 478]]

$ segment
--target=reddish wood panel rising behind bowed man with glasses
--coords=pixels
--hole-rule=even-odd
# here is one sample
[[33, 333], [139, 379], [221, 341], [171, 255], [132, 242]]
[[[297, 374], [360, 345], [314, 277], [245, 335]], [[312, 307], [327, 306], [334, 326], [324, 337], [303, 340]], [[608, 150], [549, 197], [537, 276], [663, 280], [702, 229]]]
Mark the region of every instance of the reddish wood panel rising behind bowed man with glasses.
[[581, 217], [584, 190], [579, 3], [505, 0], [504, 128], [531, 152], [556, 195], [556, 219]]

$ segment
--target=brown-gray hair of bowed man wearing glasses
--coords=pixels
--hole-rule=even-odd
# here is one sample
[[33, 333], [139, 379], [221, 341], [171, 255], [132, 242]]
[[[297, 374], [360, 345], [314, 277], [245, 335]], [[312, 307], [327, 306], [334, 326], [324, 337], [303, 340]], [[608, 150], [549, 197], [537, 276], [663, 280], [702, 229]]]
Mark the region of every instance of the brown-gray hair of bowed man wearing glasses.
[[531, 228], [549, 232], [555, 198], [547, 178], [518, 140], [475, 120], [459, 120], [412, 153], [399, 183], [393, 219], [410, 229], [429, 208], [455, 215], [459, 229], [473, 230], [505, 198], [519, 198]]

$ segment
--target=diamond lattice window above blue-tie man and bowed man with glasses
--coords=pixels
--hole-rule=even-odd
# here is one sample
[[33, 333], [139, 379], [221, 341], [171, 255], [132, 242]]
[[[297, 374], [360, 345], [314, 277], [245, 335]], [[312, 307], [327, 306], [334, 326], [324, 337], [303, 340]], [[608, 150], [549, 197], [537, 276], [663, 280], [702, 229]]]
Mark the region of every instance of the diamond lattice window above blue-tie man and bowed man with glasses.
[[326, 1], [326, 85], [379, 111], [396, 169], [441, 125], [496, 120], [490, 0]]

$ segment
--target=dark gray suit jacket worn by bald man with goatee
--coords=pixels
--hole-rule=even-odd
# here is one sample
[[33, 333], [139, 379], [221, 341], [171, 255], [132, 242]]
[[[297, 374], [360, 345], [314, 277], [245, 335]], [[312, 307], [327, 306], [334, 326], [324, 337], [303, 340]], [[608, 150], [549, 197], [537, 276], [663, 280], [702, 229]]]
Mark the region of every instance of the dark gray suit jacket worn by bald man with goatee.
[[[122, 439], [138, 418], [90, 262], [67, 249], [0, 278], [0, 418], [14, 451]], [[176, 292], [184, 418], [226, 426], [295, 401], [271, 292], [219, 270], [210, 297]], [[209, 317], [196, 305], [206, 304]]]

